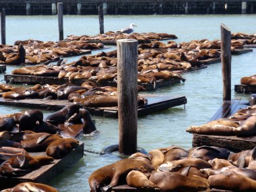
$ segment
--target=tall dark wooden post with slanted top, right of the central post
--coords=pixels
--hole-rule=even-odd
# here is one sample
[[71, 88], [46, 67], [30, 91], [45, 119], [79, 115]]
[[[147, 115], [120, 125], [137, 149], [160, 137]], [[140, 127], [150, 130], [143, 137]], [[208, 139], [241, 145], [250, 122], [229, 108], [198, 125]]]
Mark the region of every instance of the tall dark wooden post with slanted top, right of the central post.
[[221, 24], [220, 31], [223, 100], [231, 100], [231, 32], [224, 24]]

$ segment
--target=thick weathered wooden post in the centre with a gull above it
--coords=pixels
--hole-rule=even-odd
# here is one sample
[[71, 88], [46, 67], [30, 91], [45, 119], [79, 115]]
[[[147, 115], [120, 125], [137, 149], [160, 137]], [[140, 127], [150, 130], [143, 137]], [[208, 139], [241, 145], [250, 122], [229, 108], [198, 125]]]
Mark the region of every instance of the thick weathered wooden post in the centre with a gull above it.
[[119, 152], [137, 152], [137, 40], [117, 40]]

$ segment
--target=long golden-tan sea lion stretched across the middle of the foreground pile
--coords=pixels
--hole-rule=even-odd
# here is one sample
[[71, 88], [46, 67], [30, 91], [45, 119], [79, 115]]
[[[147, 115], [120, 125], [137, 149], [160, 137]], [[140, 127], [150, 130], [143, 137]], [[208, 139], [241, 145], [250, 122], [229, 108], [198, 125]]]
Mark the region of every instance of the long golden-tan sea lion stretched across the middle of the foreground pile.
[[212, 168], [212, 164], [206, 162], [205, 160], [201, 160], [198, 158], [187, 158], [182, 160], [173, 160], [172, 162], [166, 162], [166, 164], [161, 164], [158, 170], [175, 172], [180, 170], [181, 168], [184, 168], [185, 166], [193, 166], [198, 170], [201, 168]]

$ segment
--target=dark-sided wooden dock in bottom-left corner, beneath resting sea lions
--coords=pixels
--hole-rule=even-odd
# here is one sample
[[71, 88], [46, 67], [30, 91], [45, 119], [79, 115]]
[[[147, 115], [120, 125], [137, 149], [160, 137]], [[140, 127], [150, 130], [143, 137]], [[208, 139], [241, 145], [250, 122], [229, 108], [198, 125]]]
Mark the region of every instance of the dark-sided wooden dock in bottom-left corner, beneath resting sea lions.
[[[30, 153], [31, 156], [46, 156], [45, 152]], [[1, 177], [0, 176], [0, 190], [14, 187], [23, 182], [35, 183], [49, 183], [51, 179], [63, 172], [71, 164], [77, 162], [84, 156], [84, 143], [79, 143], [79, 146], [73, 149], [69, 154], [59, 160], [54, 160], [53, 163], [41, 166], [32, 172], [24, 175], [23, 177]]]

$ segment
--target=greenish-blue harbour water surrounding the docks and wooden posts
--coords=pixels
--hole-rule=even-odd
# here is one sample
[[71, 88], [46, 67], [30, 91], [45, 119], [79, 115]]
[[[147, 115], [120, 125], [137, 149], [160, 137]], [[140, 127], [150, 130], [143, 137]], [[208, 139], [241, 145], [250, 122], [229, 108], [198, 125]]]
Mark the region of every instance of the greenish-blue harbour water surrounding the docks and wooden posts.
[[[119, 30], [130, 23], [136, 24], [137, 32], [167, 32], [176, 34], [178, 42], [207, 38], [220, 39], [220, 24], [226, 24], [232, 32], [255, 33], [253, 28], [256, 15], [107, 15], [104, 18], [105, 32]], [[7, 43], [15, 40], [34, 38], [38, 40], [58, 40], [56, 16], [7, 16]], [[65, 15], [64, 32], [68, 34], [98, 34], [98, 16]], [[94, 52], [96, 53], [96, 52]], [[93, 54], [94, 54], [93, 53]], [[248, 100], [248, 95], [234, 93], [234, 84], [240, 78], [253, 75], [256, 53], [232, 56], [232, 98]], [[68, 58], [69, 59], [69, 58]], [[69, 59], [69, 61], [73, 61]], [[11, 73], [15, 67], [7, 67]], [[222, 67], [220, 63], [209, 65], [206, 69], [183, 74], [185, 83], [160, 88], [150, 94], [185, 95], [187, 104], [140, 117], [138, 120], [138, 146], [146, 150], [163, 148], [175, 144], [191, 148], [192, 135], [185, 132], [190, 125], [206, 123], [222, 104]], [[3, 75], [0, 75], [3, 79]], [[24, 108], [0, 106], [1, 114], [16, 113]], [[44, 110], [44, 117], [52, 113]], [[118, 143], [118, 121], [106, 117], [92, 117], [100, 131], [93, 137], [79, 136], [86, 150], [100, 152], [102, 148]], [[77, 164], [59, 174], [51, 185], [59, 191], [89, 191], [88, 177], [106, 164], [119, 160], [111, 154], [98, 156], [87, 154]]]

